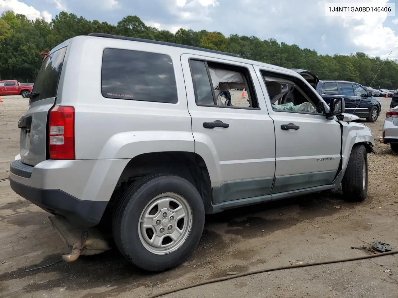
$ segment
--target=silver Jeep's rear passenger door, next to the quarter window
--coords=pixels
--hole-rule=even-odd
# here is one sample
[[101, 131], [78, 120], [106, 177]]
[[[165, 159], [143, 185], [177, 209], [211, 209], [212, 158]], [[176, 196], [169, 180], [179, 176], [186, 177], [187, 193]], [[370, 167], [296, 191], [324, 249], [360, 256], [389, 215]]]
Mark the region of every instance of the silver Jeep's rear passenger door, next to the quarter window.
[[183, 54], [181, 64], [195, 153], [209, 169], [212, 203], [269, 195], [275, 133], [253, 66], [191, 54]]

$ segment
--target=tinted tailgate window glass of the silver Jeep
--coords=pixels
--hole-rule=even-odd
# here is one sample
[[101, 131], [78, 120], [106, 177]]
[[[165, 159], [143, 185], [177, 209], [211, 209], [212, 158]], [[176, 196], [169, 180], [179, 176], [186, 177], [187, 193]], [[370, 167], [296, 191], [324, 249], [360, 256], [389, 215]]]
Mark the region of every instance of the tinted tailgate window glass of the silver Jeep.
[[37, 95], [31, 98], [31, 103], [57, 96], [58, 82], [62, 64], [64, 63], [65, 52], [66, 47], [60, 48], [45, 58], [33, 85], [32, 93], [37, 93]]

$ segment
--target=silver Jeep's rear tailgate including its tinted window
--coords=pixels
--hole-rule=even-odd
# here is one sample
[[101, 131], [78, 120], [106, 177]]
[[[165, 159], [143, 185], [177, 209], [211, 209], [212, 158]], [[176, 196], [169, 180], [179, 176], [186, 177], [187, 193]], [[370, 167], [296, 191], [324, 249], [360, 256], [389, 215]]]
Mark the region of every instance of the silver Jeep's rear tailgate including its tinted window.
[[25, 164], [35, 166], [47, 159], [47, 115], [55, 103], [65, 53], [66, 46], [45, 58], [33, 86], [28, 110], [18, 122], [21, 128], [21, 161]]

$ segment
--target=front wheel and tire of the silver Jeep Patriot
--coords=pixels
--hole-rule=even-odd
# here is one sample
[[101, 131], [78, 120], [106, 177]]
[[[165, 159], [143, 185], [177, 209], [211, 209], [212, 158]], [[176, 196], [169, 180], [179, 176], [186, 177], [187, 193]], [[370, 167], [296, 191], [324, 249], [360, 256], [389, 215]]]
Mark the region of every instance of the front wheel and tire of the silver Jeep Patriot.
[[[363, 182], [363, 165], [365, 164], [365, 183]], [[361, 202], [368, 192], [368, 159], [364, 145], [354, 145], [345, 169], [341, 188], [345, 200]]]

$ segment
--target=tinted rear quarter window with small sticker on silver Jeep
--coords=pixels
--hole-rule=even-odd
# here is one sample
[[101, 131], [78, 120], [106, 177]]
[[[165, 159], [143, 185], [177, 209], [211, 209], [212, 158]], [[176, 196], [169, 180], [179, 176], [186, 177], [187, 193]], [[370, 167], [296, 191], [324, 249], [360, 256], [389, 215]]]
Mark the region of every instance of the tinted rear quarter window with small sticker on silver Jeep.
[[102, 95], [107, 98], [177, 103], [170, 56], [107, 48], [103, 52]]

